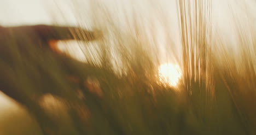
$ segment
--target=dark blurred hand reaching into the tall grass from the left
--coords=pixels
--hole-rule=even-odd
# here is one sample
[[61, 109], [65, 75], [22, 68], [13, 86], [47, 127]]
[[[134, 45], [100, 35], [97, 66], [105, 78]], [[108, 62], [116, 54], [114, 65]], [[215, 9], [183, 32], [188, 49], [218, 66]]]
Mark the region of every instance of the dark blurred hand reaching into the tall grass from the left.
[[[45, 93], [71, 97], [70, 75], [82, 77], [83, 70], [96, 67], [56, 53], [59, 40], [100, 38], [100, 32], [66, 26], [0, 27], [0, 90], [25, 105], [37, 118], [42, 128], [50, 127], [48, 116], [43, 114], [34, 99]], [[48, 121], [48, 122], [45, 122]], [[44, 130], [44, 129], [43, 129]]]

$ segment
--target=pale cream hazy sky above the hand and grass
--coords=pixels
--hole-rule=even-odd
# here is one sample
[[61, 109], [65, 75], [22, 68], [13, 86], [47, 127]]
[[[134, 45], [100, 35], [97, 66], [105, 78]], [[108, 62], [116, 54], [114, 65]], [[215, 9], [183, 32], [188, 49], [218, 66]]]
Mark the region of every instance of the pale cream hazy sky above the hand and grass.
[[[90, 8], [92, 8], [90, 2], [95, 1], [106, 5], [116, 26], [132, 31], [129, 22], [133, 19], [132, 13], [135, 12], [141, 16], [137, 20], [141, 22], [141, 32], [146, 33], [148, 39], [157, 37], [157, 44], [165, 46], [171, 44], [164, 38], [166, 34], [170, 34], [172, 42], [179, 46], [176, 0], [0, 0], [0, 25], [53, 24], [53, 22], [76, 25], [79, 19], [83, 25], [89, 27], [91, 18], [96, 17], [90, 16]], [[241, 22], [240, 25], [245, 30], [255, 30], [255, 26], [247, 22], [249, 15], [250, 21], [254, 21], [255, 24], [255, 7], [255, 0], [212, 0], [213, 34], [217, 33], [218, 36], [225, 37], [224, 42], [229, 42], [231, 48], [234, 48], [236, 44], [234, 18]], [[76, 11], [76, 14], [73, 14], [73, 11]], [[97, 11], [97, 7], [94, 11]], [[104, 13], [102, 14], [104, 16]], [[104, 21], [104, 19], [99, 20]], [[104, 22], [102, 24], [104, 25]], [[152, 31], [156, 35], [150, 34], [153, 33]], [[162, 55], [170, 54], [166, 52], [166, 48], [160, 48], [160, 51]]]

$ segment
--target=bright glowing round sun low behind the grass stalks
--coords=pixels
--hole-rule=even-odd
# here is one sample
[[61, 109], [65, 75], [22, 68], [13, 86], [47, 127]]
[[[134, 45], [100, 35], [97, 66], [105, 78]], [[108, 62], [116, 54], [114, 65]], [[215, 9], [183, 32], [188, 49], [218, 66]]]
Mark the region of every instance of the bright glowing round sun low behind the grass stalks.
[[158, 75], [161, 83], [165, 83], [169, 86], [177, 86], [182, 73], [178, 65], [167, 63], [161, 64], [158, 69]]

